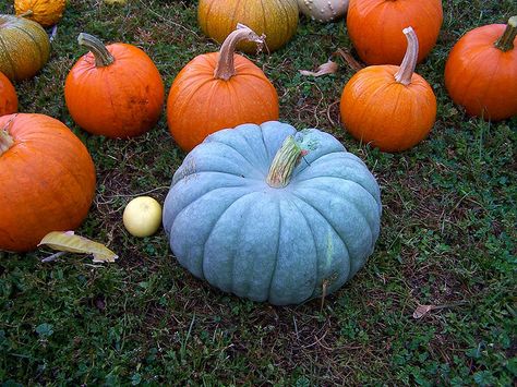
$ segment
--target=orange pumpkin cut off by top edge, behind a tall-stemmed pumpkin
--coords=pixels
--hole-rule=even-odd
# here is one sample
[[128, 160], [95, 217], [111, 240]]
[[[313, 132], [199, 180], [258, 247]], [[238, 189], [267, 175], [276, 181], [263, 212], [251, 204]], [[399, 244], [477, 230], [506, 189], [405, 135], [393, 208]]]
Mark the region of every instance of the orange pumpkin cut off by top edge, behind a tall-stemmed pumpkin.
[[402, 28], [411, 25], [419, 38], [418, 62], [436, 44], [443, 22], [441, 0], [350, 0], [347, 28], [368, 64], [399, 64], [406, 52]]

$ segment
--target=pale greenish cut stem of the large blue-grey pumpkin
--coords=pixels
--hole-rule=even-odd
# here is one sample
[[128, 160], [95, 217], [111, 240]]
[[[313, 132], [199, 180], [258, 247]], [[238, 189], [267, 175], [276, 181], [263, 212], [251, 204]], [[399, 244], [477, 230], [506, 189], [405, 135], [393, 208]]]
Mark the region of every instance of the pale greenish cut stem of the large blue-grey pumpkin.
[[294, 137], [288, 136], [273, 159], [266, 179], [267, 184], [275, 189], [281, 189], [289, 184], [292, 171], [305, 152]]

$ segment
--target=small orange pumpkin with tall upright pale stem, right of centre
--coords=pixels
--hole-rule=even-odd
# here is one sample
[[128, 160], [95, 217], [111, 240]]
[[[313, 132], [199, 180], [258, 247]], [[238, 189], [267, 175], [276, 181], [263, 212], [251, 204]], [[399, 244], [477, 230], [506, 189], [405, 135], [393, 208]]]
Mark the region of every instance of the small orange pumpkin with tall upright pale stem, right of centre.
[[341, 121], [353, 137], [383, 152], [406, 150], [425, 138], [436, 119], [436, 97], [414, 73], [418, 38], [405, 28], [407, 52], [400, 66], [371, 65], [347, 83], [340, 100]]

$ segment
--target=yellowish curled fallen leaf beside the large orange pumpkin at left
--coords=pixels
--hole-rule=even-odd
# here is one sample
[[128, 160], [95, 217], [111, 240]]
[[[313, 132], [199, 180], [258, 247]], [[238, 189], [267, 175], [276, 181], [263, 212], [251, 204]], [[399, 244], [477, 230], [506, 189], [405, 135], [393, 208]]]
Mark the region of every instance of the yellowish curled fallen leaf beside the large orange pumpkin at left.
[[62, 252], [92, 254], [94, 262], [115, 262], [115, 259], [118, 258], [117, 254], [104, 244], [94, 242], [84, 237], [75, 235], [73, 231], [49, 232], [41, 239], [38, 246], [41, 244]]

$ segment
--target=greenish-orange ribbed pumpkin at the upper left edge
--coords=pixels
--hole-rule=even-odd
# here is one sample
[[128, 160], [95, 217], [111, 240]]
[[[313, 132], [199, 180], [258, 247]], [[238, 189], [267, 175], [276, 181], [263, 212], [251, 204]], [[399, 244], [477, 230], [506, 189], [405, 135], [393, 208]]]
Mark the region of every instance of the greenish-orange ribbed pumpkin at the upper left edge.
[[0, 72], [11, 81], [33, 77], [50, 57], [50, 40], [36, 22], [0, 15]]

